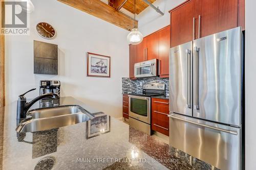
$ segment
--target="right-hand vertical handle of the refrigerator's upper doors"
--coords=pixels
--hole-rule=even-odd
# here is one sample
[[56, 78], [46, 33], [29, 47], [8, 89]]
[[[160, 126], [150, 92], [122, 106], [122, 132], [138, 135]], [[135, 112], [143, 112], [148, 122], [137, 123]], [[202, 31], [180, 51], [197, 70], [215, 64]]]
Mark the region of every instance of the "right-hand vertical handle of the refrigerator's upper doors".
[[194, 73], [195, 73], [195, 80], [194, 80], [194, 91], [195, 91], [195, 95], [194, 95], [194, 109], [195, 110], [199, 110], [199, 48], [197, 46], [194, 47]]

